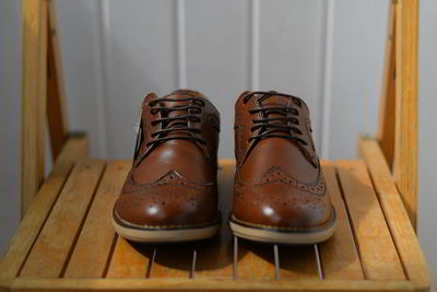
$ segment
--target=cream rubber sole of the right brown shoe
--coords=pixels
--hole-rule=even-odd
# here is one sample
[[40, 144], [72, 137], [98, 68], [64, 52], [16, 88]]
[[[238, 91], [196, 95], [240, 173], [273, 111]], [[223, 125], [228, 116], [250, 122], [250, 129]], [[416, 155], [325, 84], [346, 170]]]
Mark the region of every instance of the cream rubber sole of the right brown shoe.
[[286, 231], [245, 224], [229, 215], [229, 227], [235, 236], [262, 243], [317, 244], [329, 240], [335, 230], [335, 211], [326, 226], [307, 231]]

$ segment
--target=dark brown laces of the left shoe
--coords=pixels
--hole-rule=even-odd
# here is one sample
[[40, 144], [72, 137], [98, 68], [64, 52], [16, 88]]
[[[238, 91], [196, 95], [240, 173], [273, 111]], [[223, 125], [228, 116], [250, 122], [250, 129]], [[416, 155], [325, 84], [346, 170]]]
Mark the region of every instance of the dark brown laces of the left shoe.
[[[164, 102], [188, 102], [185, 105], [174, 105], [167, 106]], [[149, 103], [151, 115], [156, 115], [161, 113], [161, 118], [154, 119], [151, 125], [156, 126], [162, 125], [161, 130], [152, 132], [152, 140], [149, 141], [145, 147], [147, 149], [155, 148], [158, 143], [169, 141], [169, 140], [188, 140], [196, 141], [201, 144], [206, 144], [206, 141], [202, 138], [196, 137], [192, 133], [201, 133], [202, 130], [199, 128], [189, 127], [189, 121], [201, 122], [200, 117], [196, 116], [201, 114], [202, 107], [205, 105], [204, 101], [198, 97], [187, 97], [187, 98], [172, 98], [172, 97], [161, 97], [152, 100]], [[169, 117], [168, 114], [172, 112], [185, 112], [186, 114], [175, 115]], [[142, 126], [140, 124], [140, 131], [137, 136], [134, 157], [138, 156], [140, 152], [141, 143], [143, 142], [142, 137]], [[147, 151], [144, 151], [143, 155], [137, 163], [137, 165], [144, 159]]]

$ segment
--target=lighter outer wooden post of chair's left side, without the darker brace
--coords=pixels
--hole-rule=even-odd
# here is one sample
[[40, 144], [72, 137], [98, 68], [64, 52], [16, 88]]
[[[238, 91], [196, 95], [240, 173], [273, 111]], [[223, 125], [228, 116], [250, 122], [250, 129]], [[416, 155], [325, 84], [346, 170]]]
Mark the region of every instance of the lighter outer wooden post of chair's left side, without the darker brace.
[[[47, 3], [23, 2], [22, 89], [22, 217], [35, 199], [44, 179], [44, 128], [39, 112], [45, 105]], [[43, 82], [44, 81], [44, 82]], [[44, 114], [44, 113], [42, 113]], [[43, 141], [40, 141], [43, 139]]]

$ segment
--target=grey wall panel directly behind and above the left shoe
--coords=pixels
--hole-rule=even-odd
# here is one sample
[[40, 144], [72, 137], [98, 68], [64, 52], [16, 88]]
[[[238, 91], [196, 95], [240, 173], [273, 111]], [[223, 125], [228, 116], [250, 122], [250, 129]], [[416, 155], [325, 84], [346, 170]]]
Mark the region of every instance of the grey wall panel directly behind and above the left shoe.
[[170, 0], [108, 2], [105, 105], [110, 157], [130, 157], [144, 95], [177, 86], [176, 3]]

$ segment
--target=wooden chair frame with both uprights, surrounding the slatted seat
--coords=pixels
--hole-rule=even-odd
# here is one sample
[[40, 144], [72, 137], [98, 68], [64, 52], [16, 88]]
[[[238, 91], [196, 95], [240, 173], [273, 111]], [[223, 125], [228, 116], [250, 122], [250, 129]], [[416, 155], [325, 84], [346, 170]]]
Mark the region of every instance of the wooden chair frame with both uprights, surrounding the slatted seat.
[[[73, 165], [87, 156], [86, 135], [71, 133], [69, 129], [59, 52], [52, 1], [23, 0], [23, 221], [7, 256], [0, 262], [0, 292], [179, 289], [427, 291], [429, 289], [429, 271], [414, 233], [418, 215], [418, 0], [390, 2], [385, 79], [380, 98], [380, 126], [377, 138], [363, 137], [358, 140], [359, 155], [367, 171], [366, 167], [359, 166], [359, 163], [336, 163], [343, 167], [339, 168], [340, 178], [347, 176], [345, 171], [349, 165], [353, 167], [357, 165], [357, 172], [371, 178], [402, 261], [406, 281], [220, 279], [143, 281], [19, 278]], [[44, 138], [47, 121], [55, 163], [51, 174], [44, 179]], [[231, 172], [233, 162], [221, 163], [227, 167], [227, 172]], [[102, 170], [104, 167], [101, 162], [94, 165]], [[330, 171], [329, 175], [334, 177], [334, 172]], [[66, 272], [64, 269], [66, 267], [61, 269], [60, 276]]]

